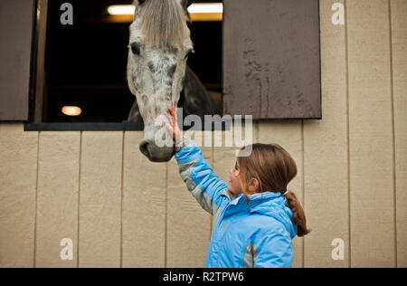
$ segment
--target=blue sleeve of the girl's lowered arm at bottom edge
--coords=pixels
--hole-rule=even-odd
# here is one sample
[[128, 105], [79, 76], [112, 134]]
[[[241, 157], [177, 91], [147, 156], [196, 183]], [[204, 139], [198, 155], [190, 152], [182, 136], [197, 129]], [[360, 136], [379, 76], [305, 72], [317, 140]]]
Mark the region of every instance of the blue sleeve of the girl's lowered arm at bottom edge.
[[281, 229], [265, 234], [256, 243], [256, 268], [291, 268], [293, 246], [289, 234]]

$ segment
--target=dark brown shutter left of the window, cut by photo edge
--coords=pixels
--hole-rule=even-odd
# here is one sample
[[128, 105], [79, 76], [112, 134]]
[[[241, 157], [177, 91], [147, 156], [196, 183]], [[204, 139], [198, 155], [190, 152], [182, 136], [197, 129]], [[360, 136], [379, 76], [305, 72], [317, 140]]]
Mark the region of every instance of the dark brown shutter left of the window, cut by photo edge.
[[33, 1], [0, 1], [0, 120], [27, 120]]

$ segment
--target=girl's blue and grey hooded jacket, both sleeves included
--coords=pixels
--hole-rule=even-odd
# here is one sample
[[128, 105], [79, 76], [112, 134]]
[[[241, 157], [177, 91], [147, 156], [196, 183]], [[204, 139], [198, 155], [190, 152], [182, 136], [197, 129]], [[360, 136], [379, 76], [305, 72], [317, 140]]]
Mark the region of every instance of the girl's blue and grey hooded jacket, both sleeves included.
[[204, 210], [213, 215], [213, 234], [205, 267], [289, 268], [297, 226], [279, 193], [233, 196], [213, 173], [202, 151], [187, 137], [175, 154], [181, 177]]

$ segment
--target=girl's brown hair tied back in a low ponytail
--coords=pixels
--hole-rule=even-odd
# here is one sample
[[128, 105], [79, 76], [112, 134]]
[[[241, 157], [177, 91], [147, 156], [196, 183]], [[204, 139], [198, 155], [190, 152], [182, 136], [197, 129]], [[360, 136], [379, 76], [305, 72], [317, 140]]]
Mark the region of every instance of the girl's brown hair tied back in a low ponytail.
[[[241, 150], [243, 150], [241, 148]], [[241, 182], [243, 195], [274, 192], [284, 195], [287, 192], [289, 182], [297, 176], [297, 165], [294, 159], [284, 148], [278, 144], [252, 144], [251, 155], [237, 157], [239, 165], [239, 180]], [[257, 178], [259, 188], [250, 192], [248, 185], [252, 178]], [[297, 196], [288, 192], [285, 195], [287, 205], [291, 209], [294, 224], [298, 226], [298, 236], [309, 234], [304, 209], [298, 202]]]

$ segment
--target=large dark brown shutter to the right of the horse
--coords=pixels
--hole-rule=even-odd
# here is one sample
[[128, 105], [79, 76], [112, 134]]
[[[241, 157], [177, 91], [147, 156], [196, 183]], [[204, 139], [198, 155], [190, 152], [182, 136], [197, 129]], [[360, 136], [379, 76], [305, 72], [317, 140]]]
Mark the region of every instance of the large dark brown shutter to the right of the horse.
[[318, 0], [224, 0], [223, 114], [320, 119]]

